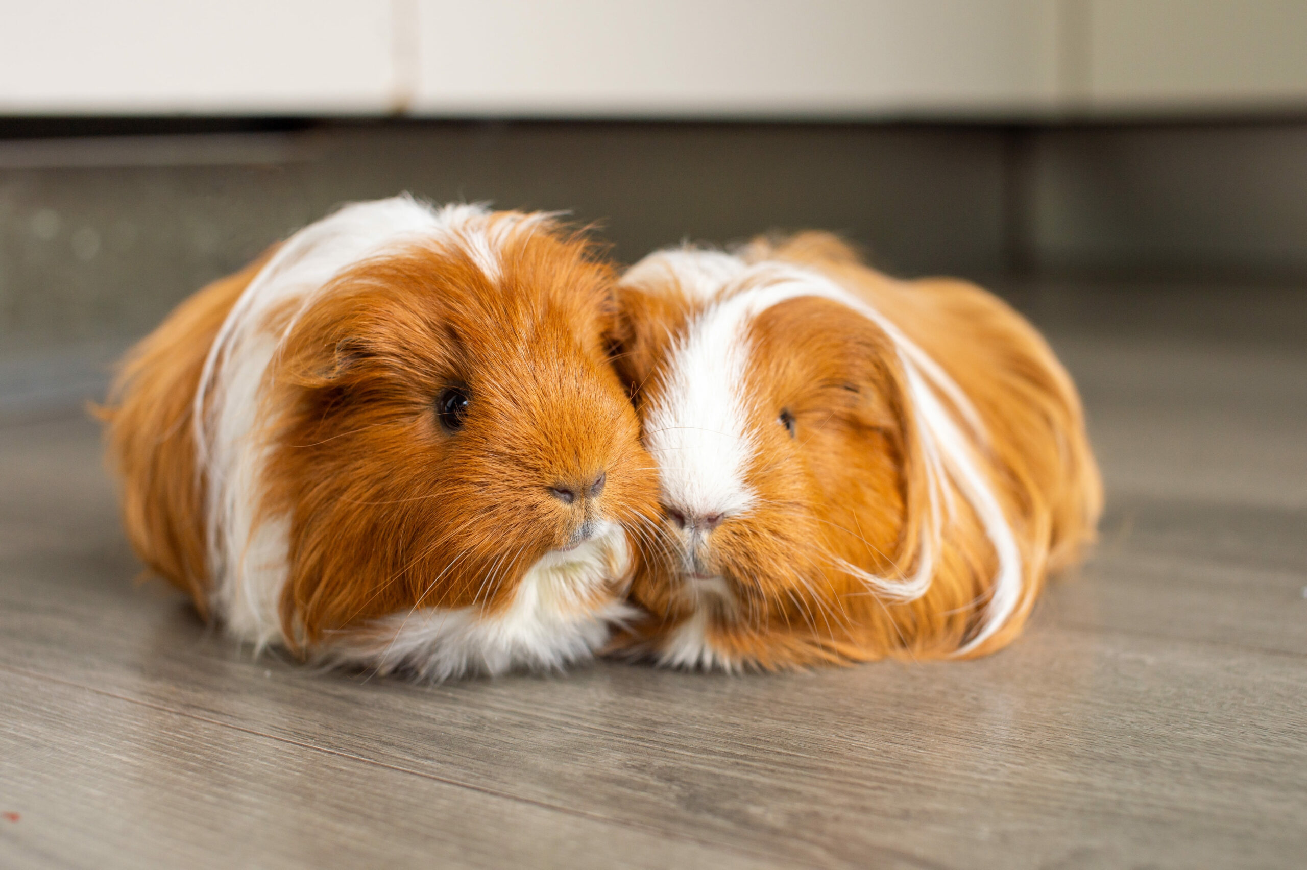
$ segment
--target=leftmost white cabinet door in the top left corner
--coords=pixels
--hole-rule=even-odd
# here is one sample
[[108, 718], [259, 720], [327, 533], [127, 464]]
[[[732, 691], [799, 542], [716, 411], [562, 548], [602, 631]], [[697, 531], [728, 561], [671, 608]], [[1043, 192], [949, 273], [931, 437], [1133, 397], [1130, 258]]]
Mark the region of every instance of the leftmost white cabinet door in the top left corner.
[[391, 4], [30, 0], [0, 13], [0, 112], [348, 114], [396, 102]]

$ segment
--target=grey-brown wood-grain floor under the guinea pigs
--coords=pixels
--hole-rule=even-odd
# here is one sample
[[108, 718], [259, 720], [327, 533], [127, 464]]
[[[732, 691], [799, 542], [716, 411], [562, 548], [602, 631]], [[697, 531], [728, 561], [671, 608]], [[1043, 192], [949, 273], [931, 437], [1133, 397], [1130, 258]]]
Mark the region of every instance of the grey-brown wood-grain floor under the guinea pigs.
[[1307, 297], [1229, 299], [1174, 298], [1180, 329], [1034, 306], [1110, 507], [1025, 637], [966, 664], [418, 687], [255, 661], [133, 587], [91, 423], [10, 422], [0, 866], [1304, 866], [1307, 342], [1226, 327]]

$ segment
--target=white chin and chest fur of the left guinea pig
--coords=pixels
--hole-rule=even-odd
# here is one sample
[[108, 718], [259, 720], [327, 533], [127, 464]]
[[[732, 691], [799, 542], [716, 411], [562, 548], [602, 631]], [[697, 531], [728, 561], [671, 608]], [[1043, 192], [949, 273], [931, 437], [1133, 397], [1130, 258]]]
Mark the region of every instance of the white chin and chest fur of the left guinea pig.
[[[471, 606], [392, 614], [365, 634], [341, 637], [325, 657], [435, 682], [516, 669], [558, 670], [589, 658], [608, 641], [614, 623], [635, 614], [621, 601], [616, 580], [629, 566], [626, 534], [610, 524], [574, 550], [541, 556], [498, 613]], [[603, 592], [597, 605], [596, 592]]]

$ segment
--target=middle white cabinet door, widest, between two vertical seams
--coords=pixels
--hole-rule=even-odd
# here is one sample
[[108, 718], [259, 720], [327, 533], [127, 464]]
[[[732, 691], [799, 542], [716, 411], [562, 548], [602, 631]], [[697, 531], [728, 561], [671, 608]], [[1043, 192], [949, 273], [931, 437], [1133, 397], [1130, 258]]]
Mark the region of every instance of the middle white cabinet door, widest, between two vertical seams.
[[995, 116], [1053, 107], [1053, 0], [416, 0], [426, 115]]

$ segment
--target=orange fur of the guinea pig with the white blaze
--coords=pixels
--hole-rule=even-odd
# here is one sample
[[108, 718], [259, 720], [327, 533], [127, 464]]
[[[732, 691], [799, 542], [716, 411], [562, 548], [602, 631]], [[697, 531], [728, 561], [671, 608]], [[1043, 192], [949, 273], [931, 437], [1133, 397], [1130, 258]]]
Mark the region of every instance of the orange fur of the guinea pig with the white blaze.
[[[1046, 573], [1072, 564], [1094, 537], [1102, 489], [1078, 396], [1043, 338], [991, 294], [961, 281], [899, 282], [838, 239], [808, 233], [754, 242], [752, 263], [819, 272], [860, 295], [925, 350], [970, 397], [988, 430], [983, 465], [1021, 549], [1025, 589], [1001, 628], [967, 654], [1019, 632]], [[691, 294], [623, 289], [618, 367], [647, 408], [667, 389], [673, 342], [703, 308]], [[903, 371], [878, 327], [836, 302], [797, 298], [750, 325], [745, 395], [757, 432], [748, 481], [757, 504], [712, 532], [701, 554], [731, 590], [711, 600], [707, 640], [724, 660], [766, 669], [903, 656], [946, 657], [975, 632], [996, 555], [955, 494], [929, 589], [908, 602], [872, 594], [843, 559], [903, 576], [923, 534], [925, 474]], [[776, 426], [780, 409], [795, 438]], [[676, 553], [646, 547], [631, 598], [648, 618], [622, 641], [656, 652], [703, 600]]]

